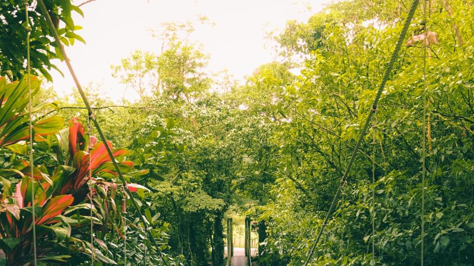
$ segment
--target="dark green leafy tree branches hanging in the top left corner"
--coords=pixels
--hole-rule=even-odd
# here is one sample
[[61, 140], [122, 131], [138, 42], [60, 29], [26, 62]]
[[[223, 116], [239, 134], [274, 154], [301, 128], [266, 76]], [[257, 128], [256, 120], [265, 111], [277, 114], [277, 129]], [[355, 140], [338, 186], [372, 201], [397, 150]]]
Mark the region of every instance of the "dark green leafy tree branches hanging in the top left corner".
[[[7, 75], [10, 80], [20, 79], [25, 71], [26, 61], [26, 18], [25, 5], [23, 0], [8, 0], [1, 4], [0, 24], [0, 75]], [[49, 71], [54, 68], [61, 72], [56, 66], [50, 63], [51, 59], [62, 59], [54, 40], [49, 38], [51, 34], [46, 27], [45, 14], [41, 14], [37, 5], [33, 1], [28, 1], [29, 19], [31, 27], [31, 67], [32, 74], [42, 74], [49, 81], [52, 80]], [[57, 31], [62, 37], [61, 41], [66, 45], [72, 45], [76, 40], [84, 42], [75, 31], [81, 27], [76, 26], [72, 20], [72, 12], [80, 15], [82, 11], [70, 0], [46, 1], [46, 8], [49, 15], [57, 25]], [[64, 28], [59, 28], [60, 21], [64, 23]]]

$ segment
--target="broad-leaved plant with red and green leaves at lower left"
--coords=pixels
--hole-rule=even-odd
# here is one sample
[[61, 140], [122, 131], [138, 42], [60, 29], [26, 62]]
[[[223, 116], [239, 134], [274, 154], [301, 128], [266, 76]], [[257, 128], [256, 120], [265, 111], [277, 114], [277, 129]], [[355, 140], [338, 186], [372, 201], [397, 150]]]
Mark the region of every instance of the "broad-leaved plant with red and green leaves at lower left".
[[[29, 138], [29, 113], [24, 110], [28, 104], [26, 84], [26, 79], [6, 84], [6, 81], [0, 78], [0, 149], [8, 148], [20, 155], [26, 155], [28, 151], [25, 140]], [[38, 79], [32, 78], [31, 84], [33, 92], [36, 92], [40, 85]], [[32, 111], [40, 111], [47, 105], [48, 103], [40, 104], [32, 108]], [[36, 142], [47, 142], [48, 145], [44, 147], [55, 149], [56, 154], [51, 150], [45, 150], [43, 153], [53, 154], [51, 156], [57, 165], [37, 165], [32, 173], [30, 163], [16, 157], [15, 163], [9, 168], [0, 168], [0, 249], [5, 254], [8, 266], [31, 265], [34, 254], [33, 226], [36, 228], [37, 255], [40, 262], [63, 263], [72, 253], [90, 256], [90, 243], [72, 237], [72, 230], [89, 226], [91, 220], [99, 226], [101, 223], [103, 227], [107, 226], [108, 200], [101, 197], [107, 198], [109, 191], [110, 201], [115, 208], [112, 196], [115, 197], [117, 184], [98, 177], [108, 176], [106, 178], [113, 179], [117, 174], [105, 146], [112, 148], [112, 143], [98, 142], [93, 136], [89, 138], [78, 118], [72, 119], [66, 129], [62, 129], [63, 125], [64, 121], [59, 117], [50, 117], [33, 124]], [[55, 137], [52, 134], [55, 134]], [[40, 145], [35, 146], [36, 149], [40, 149]], [[113, 149], [112, 152], [118, 157], [127, 154], [123, 149]], [[38, 159], [35, 162], [39, 164]], [[118, 165], [127, 173], [133, 163], [122, 161]], [[95, 206], [84, 203], [90, 191], [87, 186], [89, 173], [92, 176], [92, 193], [97, 199], [94, 200]], [[20, 179], [17, 179], [18, 177]], [[146, 188], [128, 184], [128, 189], [134, 192]], [[35, 225], [32, 226], [33, 206]], [[81, 208], [92, 208], [97, 216], [102, 216], [102, 220], [101, 217], [95, 217], [94, 220], [93, 217], [83, 216], [79, 211]], [[100, 214], [96, 209], [100, 210]], [[96, 260], [116, 264], [98, 249], [94, 250]]]

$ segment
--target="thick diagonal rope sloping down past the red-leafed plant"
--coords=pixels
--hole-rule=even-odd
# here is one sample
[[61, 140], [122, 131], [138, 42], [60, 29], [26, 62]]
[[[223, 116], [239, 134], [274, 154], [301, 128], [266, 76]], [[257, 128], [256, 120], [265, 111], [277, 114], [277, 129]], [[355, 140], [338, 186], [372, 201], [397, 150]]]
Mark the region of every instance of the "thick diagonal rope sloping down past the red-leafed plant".
[[[44, 5], [44, 1], [43, 1], [43, 0], [38, 0], [38, 5], [40, 6], [40, 10], [41, 10], [42, 15], [43, 15], [43, 16], [45, 17], [45, 19], [46, 19], [46, 23], [48, 24], [49, 30], [50, 30], [51, 33], [53, 34], [54, 39], [55, 39], [55, 41], [56, 41], [56, 44], [58, 45], [58, 48], [59, 48], [59, 50], [61, 51], [61, 54], [63, 55], [64, 61], [66, 62], [66, 65], [68, 66], [69, 72], [71, 73], [71, 76], [72, 76], [73, 79], [74, 79], [74, 83], [76, 84], [76, 87], [78, 88], [80, 97], [82, 98], [82, 101], [84, 102], [84, 105], [85, 105], [85, 107], [87, 108], [87, 110], [89, 111], [89, 113], [91, 113], [92, 122], [94, 123], [94, 126], [95, 126], [95, 128], [97, 129], [97, 133], [99, 134], [101, 141], [106, 144], [106, 143], [107, 143], [107, 139], [105, 138], [104, 133], [102, 132], [99, 123], [98, 123], [97, 120], [95, 119], [94, 110], [90, 107], [89, 100], [87, 100], [87, 97], [85, 96], [84, 91], [82, 90], [82, 86], [80, 86], [79, 79], [78, 79], [78, 77], [76, 76], [76, 73], [74, 72], [73, 66], [71, 65], [71, 62], [70, 62], [70, 60], [69, 60], [69, 58], [68, 58], [68, 56], [67, 56], [67, 54], [66, 54], [66, 50], [64, 49], [64, 46], [63, 46], [63, 44], [61, 43], [59, 34], [57, 33], [56, 28], [54, 27], [53, 22], [52, 22], [52, 20], [51, 20], [51, 17], [50, 17], [49, 14], [48, 14], [48, 10], [46, 9], [46, 6]], [[106, 148], [106, 150], [107, 150], [107, 153], [109, 154], [109, 157], [112, 159], [112, 164], [114, 165], [114, 167], [115, 167], [115, 169], [116, 169], [116, 171], [117, 171], [118, 178], [120, 179], [120, 181], [121, 181], [123, 184], [126, 184], [126, 181], [125, 181], [125, 179], [123, 178], [123, 174], [122, 174], [122, 172], [121, 172], [121, 170], [120, 170], [120, 167], [119, 167], [118, 164], [117, 164], [117, 161], [115, 160], [115, 156], [114, 156], [114, 154], [112, 153], [112, 150], [110, 149], [109, 145], [105, 145], [105, 148]], [[136, 210], [138, 211], [138, 216], [139, 216], [140, 220], [142, 221], [143, 224], [146, 224], [145, 218], [144, 218], [144, 216], [143, 216], [142, 213], [141, 213], [141, 210], [140, 210], [140, 207], [138, 206], [138, 203], [137, 203], [137, 202], [135, 201], [135, 199], [133, 198], [133, 195], [132, 195], [131, 192], [128, 191], [128, 190], [126, 190], [126, 193], [128, 194], [128, 197], [130, 197], [130, 199], [131, 199], [131, 201], [132, 201], [132, 203], [133, 203], [133, 206], [134, 206], [134, 207], [136, 208]], [[165, 265], [169, 265], [169, 263], [168, 263], [168, 262], [166, 261], [166, 259], [164, 258], [164, 255], [163, 255], [163, 253], [161, 252], [161, 249], [159, 248], [157, 241], [156, 241], [155, 238], [153, 237], [152, 232], [149, 230], [147, 233], [148, 233], [148, 236], [150, 237], [151, 242], [152, 242], [153, 245], [156, 247], [156, 249], [157, 249], [157, 251], [158, 251], [158, 253], [159, 253], [161, 259], [163, 260], [163, 263], [164, 263]]]

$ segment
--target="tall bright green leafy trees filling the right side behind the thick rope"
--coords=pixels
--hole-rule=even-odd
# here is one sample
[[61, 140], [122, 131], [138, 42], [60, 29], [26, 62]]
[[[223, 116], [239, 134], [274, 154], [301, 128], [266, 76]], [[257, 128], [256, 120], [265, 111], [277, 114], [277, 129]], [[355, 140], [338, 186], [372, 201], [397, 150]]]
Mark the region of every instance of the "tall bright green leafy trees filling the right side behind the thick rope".
[[[306, 260], [314, 229], [324, 219], [341, 172], [347, 167], [375, 88], [380, 84], [381, 70], [401, 29], [400, 20], [396, 20], [400, 14], [382, 11], [396, 10], [388, 7], [400, 3], [404, 4], [337, 3], [308, 23], [289, 24], [280, 36], [284, 49], [303, 53], [306, 60], [301, 75], [278, 99], [284, 106], [281, 115], [288, 119], [272, 138], [279, 147], [280, 156], [275, 160], [280, 167], [271, 189], [272, 200], [259, 208], [263, 211], [260, 217], [269, 221], [266, 246], [276, 251], [264, 258], [267, 263], [300, 265]], [[472, 12], [472, 7], [463, 6], [460, 14]], [[442, 3], [432, 6], [432, 10], [439, 8], [443, 8]], [[406, 14], [403, 8], [400, 11], [401, 16]], [[420, 17], [417, 13], [416, 19]], [[425, 263], [450, 265], [472, 260], [469, 249], [473, 225], [467, 211], [472, 203], [461, 196], [469, 194], [464, 188], [471, 181], [465, 178], [464, 170], [458, 170], [459, 165], [470, 165], [472, 156], [467, 144], [471, 143], [472, 128], [467, 120], [472, 120], [473, 96], [470, 85], [465, 85], [471, 83], [472, 77], [463, 70], [472, 67], [472, 62], [465, 60], [466, 51], [471, 48], [464, 45], [460, 50], [454, 49], [456, 30], [448, 12], [432, 13], [429, 23], [430, 30], [439, 33], [440, 45], [449, 48], [428, 48], [427, 136], [421, 133], [423, 50], [407, 47], [395, 63], [378, 106], [376, 127], [370, 129], [370, 138], [367, 136], [361, 155], [356, 158], [343, 190], [344, 199], [338, 202], [338, 211], [326, 227], [322, 244], [316, 247], [319, 256], [314, 262], [370, 264], [374, 258], [377, 264], [398, 265], [419, 260], [419, 147], [423, 137], [427, 139], [429, 161], [426, 195], [431, 195], [425, 204]], [[445, 34], [445, 29], [453, 29], [453, 34]], [[413, 25], [409, 32], [419, 34], [420, 28]], [[472, 38], [467, 34], [463, 37]], [[370, 181], [373, 131], [375, 184]], [[455, 185], [456, 182], [459, 183]], [[372, 187], [376, 192], [375, 210]], [[450, 203], [453, 200], [455, 206]], [[371, 235], [374, 213], [375, 239]], [[467, 232], [467, 236], [460, 232]], [[372, 241], [375, 254], [367, 251]]]

